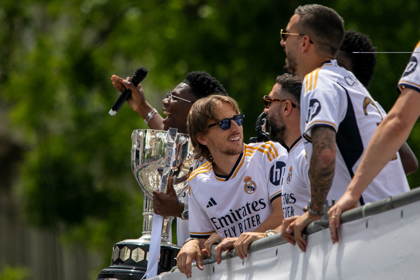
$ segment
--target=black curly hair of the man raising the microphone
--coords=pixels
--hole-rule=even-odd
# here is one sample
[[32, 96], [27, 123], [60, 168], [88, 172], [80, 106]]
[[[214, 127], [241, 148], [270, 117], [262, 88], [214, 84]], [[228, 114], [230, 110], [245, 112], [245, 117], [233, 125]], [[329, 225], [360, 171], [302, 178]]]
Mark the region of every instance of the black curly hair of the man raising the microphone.
[[228, 95], [223, 85], [220, 85], [218, 80], [204, 71], [188, 73], [182, 82], [189, 85], [192, 94], [197, 97], [197, 99], [214, 93]]

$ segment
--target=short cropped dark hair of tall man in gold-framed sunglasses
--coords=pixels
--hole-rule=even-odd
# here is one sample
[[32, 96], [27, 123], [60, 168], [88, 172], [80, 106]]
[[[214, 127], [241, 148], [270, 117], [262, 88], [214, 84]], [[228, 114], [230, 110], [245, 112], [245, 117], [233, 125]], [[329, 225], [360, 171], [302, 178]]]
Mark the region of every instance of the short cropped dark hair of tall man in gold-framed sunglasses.
[[331, 8], [310, 4], [294, 11], [299, 15], [299, 34], [307, 34], [322, 54], [336, 56], [344, 37], [344, 21]]

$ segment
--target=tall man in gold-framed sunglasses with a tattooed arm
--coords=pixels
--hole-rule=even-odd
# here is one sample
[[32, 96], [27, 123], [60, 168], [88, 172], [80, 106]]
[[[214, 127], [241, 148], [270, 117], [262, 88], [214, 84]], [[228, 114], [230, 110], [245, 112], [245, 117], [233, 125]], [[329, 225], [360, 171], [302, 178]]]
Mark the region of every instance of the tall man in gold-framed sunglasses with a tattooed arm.
[[[308, 211], [292, 222], [287, 232], [294, 232], [299, 248], [306, 251], [302, 230], [320, 219], [326, 199], [344, 194], [383, 115], [354, 74], [334, 59], [344, 37], [343, 20], [336, 11], [316, 4], [300, 6], [281, 33], [286, 68], [302, 81], [300, 128], [311, 184]], [[396, 157], [366, 188], [359, 203], [407, 190]]]

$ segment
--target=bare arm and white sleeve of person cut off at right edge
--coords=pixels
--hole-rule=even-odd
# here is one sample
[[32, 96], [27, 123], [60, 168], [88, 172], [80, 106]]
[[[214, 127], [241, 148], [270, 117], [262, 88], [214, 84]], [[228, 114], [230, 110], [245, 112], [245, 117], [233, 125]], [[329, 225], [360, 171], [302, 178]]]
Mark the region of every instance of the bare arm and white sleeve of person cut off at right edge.
[[[411, 129], [420, 116], [420, 41], [399, 79], [397, 90], [399, 98], [375, 131], [362, 161], [354, 174], [344, 195], [328, 211], [330, 231], [333, 242], [339, 240], [337, 228], [341, 213], [354, 207], [357, 198], [368, 188], [377, 174], [383, 172], [390, 158], [407, 140]], [[381, 171], [382, 170], [382, 171]], [[335, 217], [335, 219], [331, 219]], [[333, 221], [331, 223], [331, 221]]]

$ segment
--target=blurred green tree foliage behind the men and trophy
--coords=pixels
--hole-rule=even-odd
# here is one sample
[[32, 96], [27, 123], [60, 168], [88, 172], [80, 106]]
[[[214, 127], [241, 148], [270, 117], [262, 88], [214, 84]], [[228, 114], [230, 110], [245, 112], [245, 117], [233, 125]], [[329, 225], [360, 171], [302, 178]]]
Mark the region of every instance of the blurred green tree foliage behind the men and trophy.
[[[14, 186], [26, 221], [63, 240], [102, 249], [137, 238], [142, 194], [130, 167], [130, 135], [146, 128], [124, 105], [109, 116], [118, 92], [112, 74], [144, 66], [143, 87], [162, 112], [164, 93], [190, 71], [220, 80], [247, 115], [254, 136], [262, 95], [283, 73], [279, 45], [298, 5], [274, 0], [3, 0], [0, 7], [0, 105], [8, 137], [24, 148]], [[346, 29], [370, 35], [378, 51], [412, 51], [420, 39], [417, 0], [319, 1]], [[409, 54], [379, 54], [370, 86], [388, 111]], [[159, 110], [160, 109], [160, 110]], [[416, 124], [408, 143], [420, 155]], [[409, 176], [411, 187], [420, 182]]]

